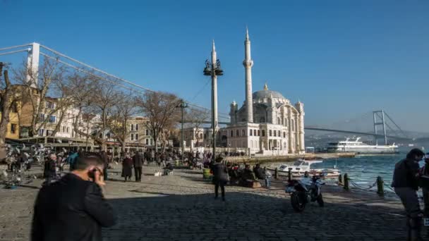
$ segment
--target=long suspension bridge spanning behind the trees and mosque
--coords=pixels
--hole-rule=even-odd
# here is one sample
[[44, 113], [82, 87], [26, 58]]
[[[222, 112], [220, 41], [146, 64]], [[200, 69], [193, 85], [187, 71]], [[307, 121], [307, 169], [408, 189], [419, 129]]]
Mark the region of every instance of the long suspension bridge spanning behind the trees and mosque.
[[[0, 56], [11, 55], [11, 54], [27, 54], [27, 66], [31, 70], [35, 71], [39, 68], [40, 56], [44, 58], [53, 59], [62, 63], [64, 66], [68, 68], [73, 68], [74, 70], [80, 71], [81, 73], [87, 73], [89, 75], [93, 75], [100, 80], [104, 80], [106, 82], [111, 83], [112, 85], [116, 85], [122, 89], [127, 89], [136, 94], [144, 94], [145, 92], [155, 92], [154, 90], [143, 87], [142, 85], [135, 84], [135, 82], [126, 80], [124, 78], [120, 78], [116, 75], [112, 75], [107, 73], [104, 70], [99, 68], [95, 68], [93, 66], [88, 65], [87, 63], [83, 63], [82, 61], [78, 61], [75, 58], [67, 56], [66, 54], [62, 54], [59, 51], [46, 47], [42, 44], [38, 43], [30, 43], [30, 44], [21, 44], [12, 47], [4, 47], [0, 48]], [[37, 72], [37, 71], [35, 71]], [[183, 98], [185, 101], [186, 99]], [[207, 109], [203, 106], [199, 106], [198, 104], [194, 104], [191, 101], [186, 101], [188, 106], [193, 111], [199, 111], [201, 113], [210, 113], [210, 109]], [[219, 115], [219, 125], [227, 125], [229, 124], [229, 115], [227, 113], [218, 113]], [[352, 128], [338, 128], [339, 123], [334, 123], [334, 127], [322, 127], [316, 125], [307, 125], [305, 130], [313, 130], [313, 131], [321, 131], [321, 132], [339, 132], [350, 135], [360, 135], [360, 136], [372, 136], [375, 138], [375, 142], [379, 142], [382, 140], [385, 144], [387, 144], [388, 140], [397, 140], [397, 141], [418, 141], [418, 140], [429, 140], [429, 137], [420, 138], [418, 140], [413, 139], [406, 135], [406, 133], [393, 121], [393, 119], [384, 111], [377, 110], [370, 112], [370, 115], [373, 119], [373, 131], [367, 130], [352, 130]], [[368, 113], [366, 114], [368, 117]], [[183, 123], [190, 123], [191, 121], [183, 121]], [[368, 122], [368, 121], [365, 121]], [[200, 123], [210, 124], [210, 121], [202, 121]], [[349, 121], [350, 123], [350, 121]], [[370, 122], [368, 122], [370, 123]]]

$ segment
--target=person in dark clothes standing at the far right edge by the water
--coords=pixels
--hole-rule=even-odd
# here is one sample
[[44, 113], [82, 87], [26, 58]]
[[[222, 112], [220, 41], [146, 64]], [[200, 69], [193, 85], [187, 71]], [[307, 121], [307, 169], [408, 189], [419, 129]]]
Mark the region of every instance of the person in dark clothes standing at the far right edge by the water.
[[406, 211], [408, 240], [422, 240], [421, 220], [423, 213], [418, 203], [417, 190], [419, 184], [419, 165], [425, 156], [420, 149], [412, 149], [406, 159], [396, 163], [393, 172], [392, 187], [401, 199]]

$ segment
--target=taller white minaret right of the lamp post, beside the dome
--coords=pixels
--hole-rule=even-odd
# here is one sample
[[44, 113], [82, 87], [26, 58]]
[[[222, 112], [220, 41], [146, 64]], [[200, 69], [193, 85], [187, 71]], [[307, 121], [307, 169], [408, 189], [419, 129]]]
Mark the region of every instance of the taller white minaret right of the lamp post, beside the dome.
[[250, 58], [250, 39], [246, 27], [246, 39], [244, 40], [244, 60], [243, 66], [246, 70], [246, 111], [247, 122], [253, 123], [253, 99], [252, 99], [252, 66], [253, 60]]

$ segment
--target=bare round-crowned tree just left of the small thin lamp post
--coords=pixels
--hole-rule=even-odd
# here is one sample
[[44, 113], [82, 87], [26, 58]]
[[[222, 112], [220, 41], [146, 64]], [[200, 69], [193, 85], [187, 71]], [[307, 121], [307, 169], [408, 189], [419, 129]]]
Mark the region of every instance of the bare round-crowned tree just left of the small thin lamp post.
[[164, 141], [164, 130], [171, 130], [179, 121], [179, 98], [175, 94], [167, 92], [145, 92], [138, 99], [138, 106], [148, 118], [146, 128], [151, 130], [152, 139], [155, 141], [155, 149], [158, 149], [159, 137]]

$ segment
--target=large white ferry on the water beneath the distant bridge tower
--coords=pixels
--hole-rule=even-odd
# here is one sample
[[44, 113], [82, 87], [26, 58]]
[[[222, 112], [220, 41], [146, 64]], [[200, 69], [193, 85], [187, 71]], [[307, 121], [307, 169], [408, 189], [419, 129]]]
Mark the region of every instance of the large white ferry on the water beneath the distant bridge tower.
[[398, 146], [391, 145], [371, 145], [360, 141], [347, 138], [345, 141], [330, 142], [327, 146], [327, 152], [354, 152], [356, 154], [395, 154], [398, 153]]

